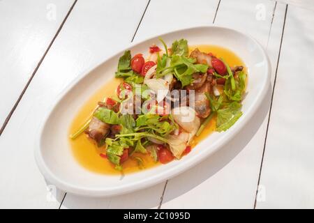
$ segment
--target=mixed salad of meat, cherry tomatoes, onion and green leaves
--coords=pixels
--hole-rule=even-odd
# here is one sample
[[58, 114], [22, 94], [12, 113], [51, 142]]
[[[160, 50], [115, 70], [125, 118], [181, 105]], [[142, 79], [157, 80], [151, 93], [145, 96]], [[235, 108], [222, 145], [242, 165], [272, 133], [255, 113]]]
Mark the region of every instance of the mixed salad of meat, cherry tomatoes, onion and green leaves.
[[122, 79], [114, 95], [98, 102], [87, 123], [70, 134], [85, 134], [100, 156], [122, 171], [128, 159], [144, 165], [138, 154], [167, 164], [187, 155], [195, 137], [216, 120], [215, 130], [228, 130], [242, 115], [246, 89], [243, 66], [230, 67], [223, 58], [188, 41], [175, 40], [171, 48], [149, 47], [149, 56], [126, 50], [115, 77]]

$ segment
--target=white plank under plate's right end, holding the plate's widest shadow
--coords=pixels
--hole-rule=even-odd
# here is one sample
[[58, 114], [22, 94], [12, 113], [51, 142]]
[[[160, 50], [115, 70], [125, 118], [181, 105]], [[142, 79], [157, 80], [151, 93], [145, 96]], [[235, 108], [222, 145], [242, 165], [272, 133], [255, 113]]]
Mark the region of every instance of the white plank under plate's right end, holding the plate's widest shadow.
[[[285, 5], [278, 3], [273, 20], [274, 7], [271, 1], [223, 0], [216, 17], [218, 25], [247, 32], [264, 47], [269, 43], [272, 76], [285, 14]], [[257, 14], [259, 10], [264, 11], [264, 17]], [[253, 208], [270, 93], [238, 137], [190, 171], [169, 180], [161, 208]]]

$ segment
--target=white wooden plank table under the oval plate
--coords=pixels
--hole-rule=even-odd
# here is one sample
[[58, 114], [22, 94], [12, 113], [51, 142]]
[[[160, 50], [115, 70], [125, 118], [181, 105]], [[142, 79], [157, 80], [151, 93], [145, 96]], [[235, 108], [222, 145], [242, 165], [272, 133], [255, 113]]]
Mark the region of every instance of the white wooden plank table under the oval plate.
[[[119, 197], [45, 181], [34, 140], [69, 82], [132, 41], [211, 24], [251, 34], [271, 59], [273, 91], [239, 137]], [[314, 208], [313, 24], [313, 0], [0, 0], [0, 208]]]

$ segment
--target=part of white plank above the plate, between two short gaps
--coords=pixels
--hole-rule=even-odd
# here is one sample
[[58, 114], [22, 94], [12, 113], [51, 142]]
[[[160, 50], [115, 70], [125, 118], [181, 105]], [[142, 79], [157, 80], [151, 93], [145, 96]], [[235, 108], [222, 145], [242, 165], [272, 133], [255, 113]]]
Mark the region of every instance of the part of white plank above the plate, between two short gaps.
[[151, 0], [135, 41], [193, 26], [211, 25], [218, 0]]

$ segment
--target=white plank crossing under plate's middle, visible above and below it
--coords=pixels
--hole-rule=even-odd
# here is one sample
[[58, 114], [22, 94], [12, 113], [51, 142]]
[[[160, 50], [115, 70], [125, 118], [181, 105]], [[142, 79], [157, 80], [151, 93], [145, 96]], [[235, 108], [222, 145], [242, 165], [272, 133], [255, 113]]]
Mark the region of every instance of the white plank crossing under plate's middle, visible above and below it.
[[[210, 24], [209, 21], [214, 18], [217, 4], [216, 0], [200, 1], [200, 5], [203, 6], [200, 8], [192, 0], [151, 0], [134, 40], [149, 38], [149, 36], [165, 33], [172, 29]], [[167, 18], [160, 16], [160, 12], [169, 16]], [[193, 16], [186, 17], [187, 13], [192, 13]], [[158, 22], [154, 22], [156, 20]], [[67, 194], [61, 208], [158, 208], [164, 186], [165, 183], [160, 183], [139, 192], [107, 199], [89, 199]]]

